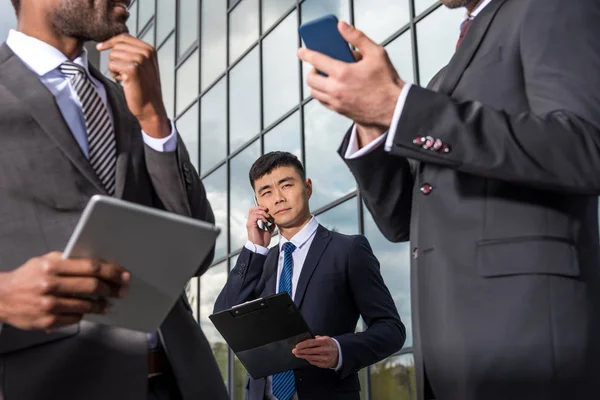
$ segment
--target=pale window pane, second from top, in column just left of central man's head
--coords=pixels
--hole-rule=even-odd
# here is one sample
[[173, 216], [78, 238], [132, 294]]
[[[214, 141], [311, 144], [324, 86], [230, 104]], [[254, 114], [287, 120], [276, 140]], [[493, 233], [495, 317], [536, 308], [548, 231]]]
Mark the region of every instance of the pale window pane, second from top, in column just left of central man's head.
[[258, 48], [229, 74], [230, 153], [260, 132], [260, 82]]

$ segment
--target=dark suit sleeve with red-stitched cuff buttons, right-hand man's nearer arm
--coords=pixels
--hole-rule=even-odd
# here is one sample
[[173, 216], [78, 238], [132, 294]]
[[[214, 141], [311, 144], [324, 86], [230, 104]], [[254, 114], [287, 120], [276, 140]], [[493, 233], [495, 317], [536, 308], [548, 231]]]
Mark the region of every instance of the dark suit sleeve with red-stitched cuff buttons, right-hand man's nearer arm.
[[[414, 86], [391, 154], [540, 189], [600, 194], [600, 3], [524, 4], [519, 46], [530, 111], [511, 115]], [[423, 149], [416, 136], [440, 138], [451, 151]]]

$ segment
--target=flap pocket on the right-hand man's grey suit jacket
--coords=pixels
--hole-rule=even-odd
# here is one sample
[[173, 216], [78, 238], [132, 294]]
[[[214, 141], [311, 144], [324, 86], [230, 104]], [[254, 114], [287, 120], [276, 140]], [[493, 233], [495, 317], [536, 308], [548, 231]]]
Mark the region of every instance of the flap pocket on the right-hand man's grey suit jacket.
[[477, 268], [486, 278], [546, 274], [579, 276], [573, 243], [558, 237], [523, 237], [477, 243]]

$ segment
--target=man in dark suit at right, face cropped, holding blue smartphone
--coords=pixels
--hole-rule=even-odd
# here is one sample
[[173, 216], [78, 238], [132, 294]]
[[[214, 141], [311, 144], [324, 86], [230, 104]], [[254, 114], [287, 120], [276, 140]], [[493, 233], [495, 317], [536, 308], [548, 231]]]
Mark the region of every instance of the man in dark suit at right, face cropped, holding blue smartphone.
[[442, 3], [468, 18], [427, 89], [345, 24], [359, 62], [300, 51], [379, 228], [410, 236], [421, 397], [597, 397], [600, 3]]

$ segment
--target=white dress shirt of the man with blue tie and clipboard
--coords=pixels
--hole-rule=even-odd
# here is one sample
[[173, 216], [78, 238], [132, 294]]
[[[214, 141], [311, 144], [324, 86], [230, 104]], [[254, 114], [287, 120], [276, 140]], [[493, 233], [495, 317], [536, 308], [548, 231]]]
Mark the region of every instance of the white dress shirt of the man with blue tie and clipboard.
[[[317, 233], [317, 228], [319, 227], [319, 223], [317, 222], [315, 217], [312, 217], [311, 220], [300, 230], [300, 232], [296, 233], [291, 240], [287, 240], [283, 237], [283, 235], [279, 235], [279, 260], [277, 262], [277, 283], [275, 286], [275, 292], [279, 292], [279, 278], [281, 277], [281, 271], [283, 270], [283, 260], [284, 260], [284, 252], [283, 245], [287, 242], [292, 242], [294, 246], [296, 246], [296, 250], [292, 253], [292, 258], [294, 260], [294, 269], [292, 271], [292, 299], [296, 297], [296, 287], [298, 286], [298, 281], [300, 280], [300, 274], [302, 273], [302, 267], [304, 266], [304, 261], [306, 261], [306, 256], [308, 255], [308, 251], [310, 249], [310, 245], [312, 244], [313, 239]], [[262, 254], [264, 256], [267, 255], [269, 249], [263, 246], [259, 246], [250, 241], [246, 242], [246, 249], [250, 250], [253, 253]], [[338, 364], [335, 367], [336, 371], [339, 371], [342, 368], [342, 348], [337, 340], [333, 339], [334, 342], [338, 346], [338, 355], [339, 360]], [[273, 383], [272, 377], [268, 377], [267, 379], [267, 389], [265, 395], [270, 400], [277, 400], [275, 396], [273, 396]], [[297, 400], [297, 395], [294, 395], [292, 400]]]

